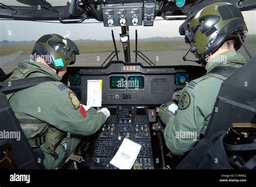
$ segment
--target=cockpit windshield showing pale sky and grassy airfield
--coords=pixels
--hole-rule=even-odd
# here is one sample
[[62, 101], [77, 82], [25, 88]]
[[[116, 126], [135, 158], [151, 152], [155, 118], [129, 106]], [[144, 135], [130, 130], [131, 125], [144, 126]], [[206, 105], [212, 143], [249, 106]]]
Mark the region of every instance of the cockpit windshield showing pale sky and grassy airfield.
[[[256, 11], [242, 12], [248, 27], [248, 36], [245, 44], [254, 56], [256, 54]], [[120, 43], [119, 27], [104, 27], [96, 20], [85, 20], [82, 24], [60, 24], [57, 22], [28, 22], [18, 20], [0, 20], [0, 67], [8, 73], [17, 63], [29, 59], [33, 44], [36, 40], [48, 33], [57, 33], [73, 40], [80, 51], [75, 65], [72, 66], [100, 66], [114, 50], [111, 30], [114, 32], [119, 60], [124, 61], [123, 47]], [[156, 18], [154, 26], [131, 26], [131, 62], [135, 62], [135, 30], [138, 30], [138, 50], [156, 65], [197, 65], [183, 61], [189, 46], [179, 35], [179, 26], [183, 20], [162, 20]], [[248, 55], [241, 47], [238, 51], [244, 58]], [[187, 59], [195, 59], [189, 53]], [[113, 58], [116, 60], [116, 58]], [[138, 62], [148, 65], [138, 57]]]

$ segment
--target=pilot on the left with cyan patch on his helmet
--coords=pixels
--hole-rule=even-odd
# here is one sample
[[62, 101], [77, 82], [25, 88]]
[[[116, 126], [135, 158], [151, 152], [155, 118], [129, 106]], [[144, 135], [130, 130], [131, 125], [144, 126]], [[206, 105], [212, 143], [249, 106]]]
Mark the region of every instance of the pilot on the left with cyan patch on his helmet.
[[19, 63], [6, 80], [43, 76], [55, 80], [7, 95], [30, 146], [46, 169], [62, 164], [77, 147], [80, 136], [95, 133], [110, 116], [107, 108], [97, 112], [80, 104], [77, 96], [59, 82], [66, 66], [75, 63], [76, 54], [79, 51], [73, 41], [46, 34], [36, 42], [31, 59]]

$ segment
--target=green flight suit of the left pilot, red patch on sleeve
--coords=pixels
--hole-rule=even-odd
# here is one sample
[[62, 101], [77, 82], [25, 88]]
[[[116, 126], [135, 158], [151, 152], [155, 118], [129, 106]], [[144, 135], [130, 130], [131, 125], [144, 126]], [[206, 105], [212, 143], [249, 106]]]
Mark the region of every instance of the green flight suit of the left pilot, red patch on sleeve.
[[77, 147], [78, 136], [95, 133], [106, 121], [106, 116], [94, 108], [85, 113], [76, 95], [59, 82], [59, 75], [42, 63], [25, 60], [6, 81], [42, 76], [56, 81], [44, 82], [7, 97], [30, 145], [38, 146], [36, 140], [41, 141], [40, 145], [43, 143], [39, 146], [45, 156], [45, 168], [54, 169]]

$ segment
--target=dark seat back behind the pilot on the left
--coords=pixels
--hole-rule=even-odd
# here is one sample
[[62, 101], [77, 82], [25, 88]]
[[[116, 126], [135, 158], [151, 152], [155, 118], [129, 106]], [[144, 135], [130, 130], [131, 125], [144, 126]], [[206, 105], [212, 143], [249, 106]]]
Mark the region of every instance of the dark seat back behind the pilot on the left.
[[[8, 149], [11, 155], [12, 169], [39, 169], [35, 153], [33, 152], [25, 134], [11, 109], [5, 94], [0, 92], [0, 148]], [[0, 163], [1, 165], [1, 163]]]

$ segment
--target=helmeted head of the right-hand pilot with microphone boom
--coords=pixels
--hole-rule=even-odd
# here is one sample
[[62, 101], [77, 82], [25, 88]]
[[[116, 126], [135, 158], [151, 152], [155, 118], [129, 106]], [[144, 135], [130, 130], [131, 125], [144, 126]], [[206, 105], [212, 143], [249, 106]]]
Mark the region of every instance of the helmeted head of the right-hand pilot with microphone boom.
[[190, 44], [190, 51], [205, 64], [217, 50], [238, 50], [244, 42], [247, 27], [241, 11], [230, 3], [213, 3], [187, 16], [179, 27], [180, 35]]

